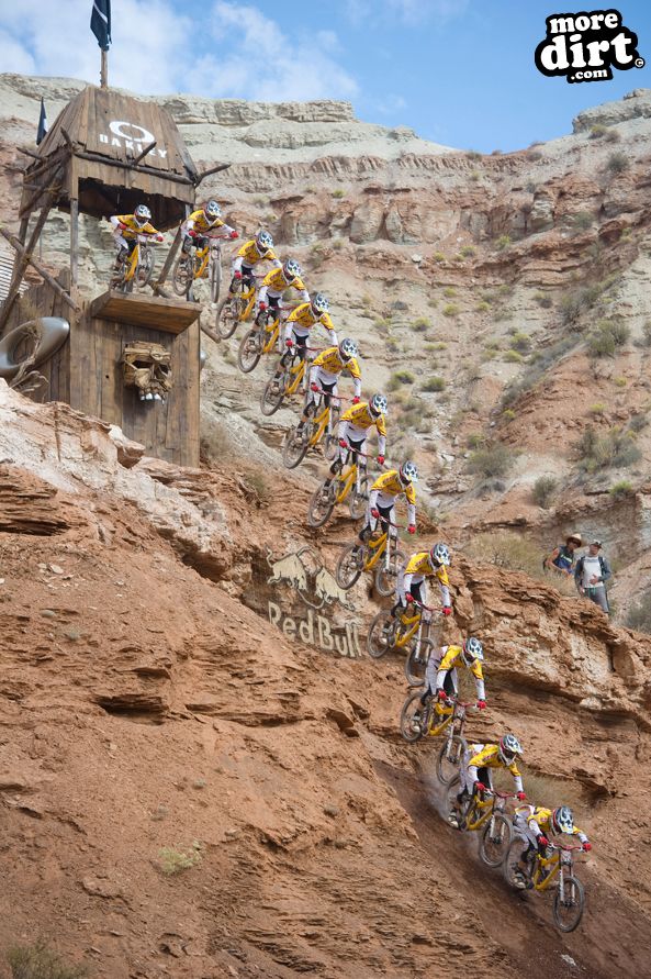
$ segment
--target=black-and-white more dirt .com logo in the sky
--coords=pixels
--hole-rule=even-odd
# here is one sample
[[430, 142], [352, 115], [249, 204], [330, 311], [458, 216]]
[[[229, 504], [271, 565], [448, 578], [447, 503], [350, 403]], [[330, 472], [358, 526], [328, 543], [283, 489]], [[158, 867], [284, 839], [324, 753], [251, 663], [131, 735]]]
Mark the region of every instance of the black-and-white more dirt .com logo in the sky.
[[564, 75], [568, 81], [607, 81], [613, 68], [643, 68], [638, 35], [622, 23], [618, 10], [553, 13], [547, 37], [536, 48], [536, 67], [543, 75]]

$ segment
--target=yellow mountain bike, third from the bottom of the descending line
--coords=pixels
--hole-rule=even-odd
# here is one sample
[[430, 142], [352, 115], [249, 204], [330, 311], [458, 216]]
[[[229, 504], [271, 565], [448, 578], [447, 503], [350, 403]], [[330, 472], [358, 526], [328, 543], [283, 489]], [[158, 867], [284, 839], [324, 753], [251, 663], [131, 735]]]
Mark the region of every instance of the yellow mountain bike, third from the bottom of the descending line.
[[400, 715], [400, 733], [407, 744], [415, 744], [423, 737], [438, 737], [446, 733], [436, 761], [436, 775], [444, 786], [449, 786], [459, 775], [463, 754], [468, 748], [464, 737], [468, 709], [474, 701], [449, 697], [441, 703], [429, 697], [425, 705], [420, 702], [422, 690], [407, 696]]

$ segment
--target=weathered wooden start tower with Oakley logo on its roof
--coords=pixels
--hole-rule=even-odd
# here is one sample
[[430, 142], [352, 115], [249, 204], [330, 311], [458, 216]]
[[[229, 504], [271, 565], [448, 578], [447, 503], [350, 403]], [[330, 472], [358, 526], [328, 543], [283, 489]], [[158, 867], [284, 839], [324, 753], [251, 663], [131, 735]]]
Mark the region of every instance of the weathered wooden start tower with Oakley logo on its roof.
[[[165, 298], [160, 287], [157, 296], [110, 290], [82, 296], [78, 225], [80, 213], [106, 218], [146, 203], [155, 225], [166, 231], [192, 208], [200, 180], [224, 167], [200, 176], [165, 109], [94, 86], [66, 105], [37, 152], [22, 152], [32, 159], [24, 170], [20, 227], [16, 235], [0, 229], [15, 252], [9, 293], [0, 305], [0, 347], [9, 334], [20, 343], [25, 323], [44, 316], [68, 320], [64, 344], [46, 363], [36, 360], [46, 399], [120, 425], [149, 455], [198, 465], [200, 307]], [[70, 214], [70, 265], [56, 276], [44, 267], [46, 256], [37, 260], [34, 254], [53, 208]], [[179, 235], [165, 272], [178, 243]], [[20, 294], [27, 265], [43, 281]], [[165, 401], [142, 401], [125, 383], [124, 354], [134, 345], [158, 345], [167, 358], [171, 389]]]

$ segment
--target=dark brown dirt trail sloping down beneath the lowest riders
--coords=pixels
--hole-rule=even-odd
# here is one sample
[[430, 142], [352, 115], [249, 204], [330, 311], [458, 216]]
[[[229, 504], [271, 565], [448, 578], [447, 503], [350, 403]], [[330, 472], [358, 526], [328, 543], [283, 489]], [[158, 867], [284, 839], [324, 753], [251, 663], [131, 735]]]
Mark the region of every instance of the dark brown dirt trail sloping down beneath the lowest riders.
[[[500, 871], [481, 864], [474, 836], [444, 823], [435, 808], [444, 793], [436, 792], [423, 771], [384, 763], [377, 764], [377, 771], [397, 793], [423, 848], [465, 892], [469, 919], [480, 921], [503, 945], [514, 968], [545, 979], [611, 979], [615, 970], [624, 976], [651, 974], [648, 917], [620, 891], [599, 882], [590, 865], [579, 869], [587, 897], [583, 921], [576, 932], [562, 935], [553, 925], [548, 895], [515, 893]], [[636, 941], [627, 935], [636, 935]]]

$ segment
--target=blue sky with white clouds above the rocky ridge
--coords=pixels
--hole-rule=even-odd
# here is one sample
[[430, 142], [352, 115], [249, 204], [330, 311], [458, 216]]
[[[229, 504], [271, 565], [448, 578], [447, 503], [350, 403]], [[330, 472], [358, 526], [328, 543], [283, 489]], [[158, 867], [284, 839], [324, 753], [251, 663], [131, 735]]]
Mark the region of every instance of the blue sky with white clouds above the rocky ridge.
[[[98, 80], [92, 0], [0, 0], [0, 70]], [[588, 105], [651, 87], [651, 67], [569, 85], [534, 64], [553, 0], [113, 0], [110, 80], [143, 93], [336, 98], [450, 146], [517, 149]], [[606, 10], [591, 4], [588, 10]], [[651, 57], [651, 3], [620, 2]], [[137, 51], [137, 54], [135, 52]]]

